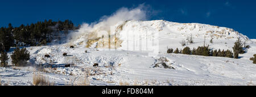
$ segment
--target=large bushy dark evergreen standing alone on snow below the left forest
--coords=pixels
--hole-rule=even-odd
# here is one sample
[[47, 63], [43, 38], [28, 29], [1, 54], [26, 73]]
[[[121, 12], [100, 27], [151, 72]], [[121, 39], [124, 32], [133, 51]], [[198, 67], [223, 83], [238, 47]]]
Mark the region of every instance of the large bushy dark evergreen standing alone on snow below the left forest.
[[11, 55], [11, 59], [11, 62], [15, 64], [15, 66], [26, 66], [27, 61], [30, 60], [30, 52], [28, 52], [26, 48], [16, 48]]

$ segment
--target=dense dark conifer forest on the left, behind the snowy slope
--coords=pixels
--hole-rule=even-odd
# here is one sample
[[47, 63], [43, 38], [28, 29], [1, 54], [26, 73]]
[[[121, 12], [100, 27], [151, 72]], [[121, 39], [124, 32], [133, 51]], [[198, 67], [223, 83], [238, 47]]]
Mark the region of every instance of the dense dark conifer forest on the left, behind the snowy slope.
[[[54, 22], [51, 19], [44, 22], [37, 22], [13, 27], [9, 23], [8, 27], [0, 29], [0, 52], [9, 51], [10, 47], [46, 45], [51, 42], [54, 35], [59, 32], [68, 33], [68, 30], [78, 29], [71, 20]], [[22, 45], [20, 45], [22, 44]]]

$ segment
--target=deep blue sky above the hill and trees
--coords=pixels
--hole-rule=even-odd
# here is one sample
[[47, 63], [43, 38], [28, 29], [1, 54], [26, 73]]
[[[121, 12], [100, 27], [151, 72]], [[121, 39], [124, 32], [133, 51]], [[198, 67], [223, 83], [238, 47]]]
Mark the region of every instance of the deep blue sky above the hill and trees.
[[12, 23], [30, 24], [45, 19], [72, 20], [73, 23], [96, 22], [121, 7], [144, 3], [158, 13], [150, 20], [164, 19], [180, 23], [204, 23], [233, 28], [256, 39], [255, 0], [3, 0], [0, 2], [0, 27]]

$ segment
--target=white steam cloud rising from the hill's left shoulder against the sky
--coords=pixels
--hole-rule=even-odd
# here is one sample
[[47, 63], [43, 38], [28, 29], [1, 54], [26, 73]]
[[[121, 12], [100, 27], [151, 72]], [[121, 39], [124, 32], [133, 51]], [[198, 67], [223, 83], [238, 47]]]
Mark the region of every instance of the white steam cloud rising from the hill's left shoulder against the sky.
[[[88, 39], [93, 38], [94, 36], [88, 36], [89, 34], [98, 35], [102, 32], [110, 32], [110, 27], [114, 26], [117, 23], [125, 22], [126, 20], [147, 20], [148, 17], [148, 6], [144, 4], [135, 7], [134, 9], [128, 9], [122, 7], [121, 9], [115, 11], [110, 16], [102, 16], [98, 22], [94, 23], [84, 23], [78, 32], [73, 33], [71, 36], [71, 41], [69, 44], [76, 44], [79, 41], [87, 41]], [[82, 38], [81, 38], [82, 37]], [[94, 37], [95, 38], [95, 37]]]

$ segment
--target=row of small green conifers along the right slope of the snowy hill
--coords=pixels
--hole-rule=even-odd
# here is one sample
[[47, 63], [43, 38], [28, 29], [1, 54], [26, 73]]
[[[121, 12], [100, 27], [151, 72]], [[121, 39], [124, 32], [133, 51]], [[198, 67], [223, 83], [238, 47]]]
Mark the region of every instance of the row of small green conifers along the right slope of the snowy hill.
[[[216, 49], [212, 50], [208, 46], [200, 46], [197, 48], [190, 49], [189, 47], [185, 47], [183, 49], [178, 49], [174, 52], [172, 48], [167, 49], [167, 53], [182, 53], [182, 54], [193, 54], [193, 55], [199, 55], [199, 56], [216, 56], [216, 57], [229, 57], [229, 58], [238, 58], [238, 54], [243, 54], [245, 51], [243, 50], [244, 48], [242, 47], [242, 42], [240, 39], [237, 39], [237, 41], [234, 43], [233, 47], [233, 52], [231, 50], [221, 50], [221, 49]], [[255, 55], [256, 56], [256, 55]], [[251, 58], [250, 60], [254, 60]], [[256, 60], [256, 59], [255, 59]]]

